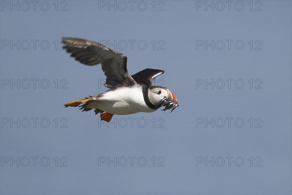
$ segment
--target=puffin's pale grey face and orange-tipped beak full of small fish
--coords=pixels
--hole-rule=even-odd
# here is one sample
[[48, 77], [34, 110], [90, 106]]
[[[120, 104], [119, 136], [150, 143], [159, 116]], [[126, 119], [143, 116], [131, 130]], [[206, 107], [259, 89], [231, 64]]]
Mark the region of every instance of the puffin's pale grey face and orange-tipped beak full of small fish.
[[169, 89], [161, 86], [151, 86], [148, 88], [148, 98], [155, 109], [165, 106], [163, 110], [172, 109], [179, 106], [178, 100]]

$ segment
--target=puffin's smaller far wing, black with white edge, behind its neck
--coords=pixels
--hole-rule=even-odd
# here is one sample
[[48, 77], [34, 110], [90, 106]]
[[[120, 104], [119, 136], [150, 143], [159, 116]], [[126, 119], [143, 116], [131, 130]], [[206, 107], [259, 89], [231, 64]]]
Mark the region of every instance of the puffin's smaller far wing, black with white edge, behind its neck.
[[156, 76], [163, 74], [164, 71], [156, 69], [145, 69], [132, 75], [132, 78], [137, 82], [146, 86], [151, 86], [151, 80]]

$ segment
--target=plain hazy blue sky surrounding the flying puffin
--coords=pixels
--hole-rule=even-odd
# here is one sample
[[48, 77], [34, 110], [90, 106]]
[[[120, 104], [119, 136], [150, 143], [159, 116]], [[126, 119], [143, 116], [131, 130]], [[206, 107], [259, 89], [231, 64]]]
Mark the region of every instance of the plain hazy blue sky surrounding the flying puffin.
[[[0, 5], [0, 194], [292, 194], [291, 1]], [[107, 89], [63, 36], [164, 70], [180, 106], [110, 124], [64, 108]]]

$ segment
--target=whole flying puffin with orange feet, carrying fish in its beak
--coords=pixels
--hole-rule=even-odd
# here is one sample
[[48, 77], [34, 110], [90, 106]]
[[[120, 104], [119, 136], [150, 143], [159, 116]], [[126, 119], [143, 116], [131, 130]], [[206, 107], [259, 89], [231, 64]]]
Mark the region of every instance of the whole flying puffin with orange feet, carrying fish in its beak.
[[106, 46], [80, 38], [62, 38], [63, 49], [75, 60], [88, 66], [101, 64], [106, 75], [105, 87], [110, 88], [89, 98], [66, 103], [64, 106], [79, 106], [82, 111], [94, 109], [101, 120], [110, 122], [114, 114], [126, 115], [137, 112], [153, 112], [179, 106], [177, 98], [169, 89], [152, 86], [151, 80], [164, 71], [145, 69], [134, 75], [127, 71], [127, 56]]

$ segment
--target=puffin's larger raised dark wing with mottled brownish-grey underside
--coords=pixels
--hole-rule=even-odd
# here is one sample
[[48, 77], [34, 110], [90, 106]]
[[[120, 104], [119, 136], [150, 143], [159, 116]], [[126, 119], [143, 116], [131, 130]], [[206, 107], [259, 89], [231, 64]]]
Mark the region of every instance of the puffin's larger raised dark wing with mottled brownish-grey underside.
[[113, 88], [117, 85], [132, 85], [134, 79], [127, 70], [127, 56], [106, 46], [85, 39], [62, 38], [63, 49], [75, 60], [88, 66], [101, 63], [107, 77], [105, 86]]

